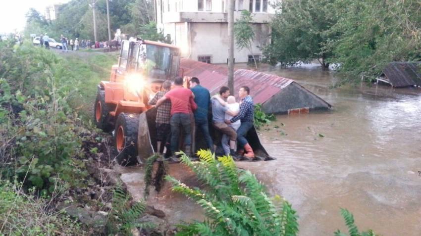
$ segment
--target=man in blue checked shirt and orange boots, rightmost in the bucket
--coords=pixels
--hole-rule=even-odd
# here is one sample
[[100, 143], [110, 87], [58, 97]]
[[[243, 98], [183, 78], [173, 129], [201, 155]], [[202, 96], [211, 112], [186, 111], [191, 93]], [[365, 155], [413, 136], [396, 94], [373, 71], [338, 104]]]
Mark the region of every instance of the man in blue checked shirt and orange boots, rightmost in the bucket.
[[253, 98], [250, 96], [250, 89], [247, 86], [243, 86], [238, 91], [238, 95], [241, 98], [240, 112], [231, 118], [231, 120], [225, 120], [225, 123], [231, 124], [237, 120], [241, 120], [240, 128], [237, 130], [237, 141], [240, 146], [243, 146], [246, 153], [245, 157], [253, 159], [255, 154], [249, 142], [245, 138], [247, 132], [253, 127], [254, 121], [254, 104]]

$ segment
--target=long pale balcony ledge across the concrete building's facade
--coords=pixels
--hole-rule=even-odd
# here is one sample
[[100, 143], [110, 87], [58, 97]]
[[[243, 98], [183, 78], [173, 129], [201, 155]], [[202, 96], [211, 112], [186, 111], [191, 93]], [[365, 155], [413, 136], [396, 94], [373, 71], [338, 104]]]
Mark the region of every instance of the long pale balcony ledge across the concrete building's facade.
[[[234, 11], [234, 21], [239, 19], [241, 11]], [[252, 13], [252, 23], [268, 23], [274, 14], [270, 13]], [[182, 22], [198, 22], [198, 23], [227, 23], [228, 13], [222, 12], [164, 12], [162, 23], [182, 23]]]

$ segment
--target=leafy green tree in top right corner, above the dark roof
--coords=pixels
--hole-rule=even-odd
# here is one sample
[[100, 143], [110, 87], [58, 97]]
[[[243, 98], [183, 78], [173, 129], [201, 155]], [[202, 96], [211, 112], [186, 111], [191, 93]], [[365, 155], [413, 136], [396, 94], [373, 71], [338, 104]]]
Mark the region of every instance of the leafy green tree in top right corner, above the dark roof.
[[391, 61], [421, 59], [421, 3], [415, 0], [336, 0], [338, 21], [325, 45], [351, 80], [374, 78]]

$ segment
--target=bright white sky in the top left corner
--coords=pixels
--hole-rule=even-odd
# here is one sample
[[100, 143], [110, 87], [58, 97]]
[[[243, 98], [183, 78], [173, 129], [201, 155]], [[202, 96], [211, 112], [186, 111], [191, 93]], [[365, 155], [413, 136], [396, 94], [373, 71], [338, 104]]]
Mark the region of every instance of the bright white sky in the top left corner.
[[33, 7], [44, 15], [45, 8], [51, 4], [65, 3], [69, 0], [0, 0], [0, 34], [23, 30], [25, 14]]

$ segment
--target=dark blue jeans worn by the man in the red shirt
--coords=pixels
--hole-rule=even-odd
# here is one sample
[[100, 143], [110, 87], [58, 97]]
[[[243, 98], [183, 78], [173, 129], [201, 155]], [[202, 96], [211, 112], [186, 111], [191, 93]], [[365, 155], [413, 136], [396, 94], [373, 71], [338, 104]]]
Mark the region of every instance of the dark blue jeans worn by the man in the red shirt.
[[178, 151], [178, 137], [180, 136], [180, 126], [184, 131], [184, 145], [192, 145], [192, 129], [190, 114], [175, 113], [171, 116], [169, 121], [171, 125], [171, 151], [172, 153]]

